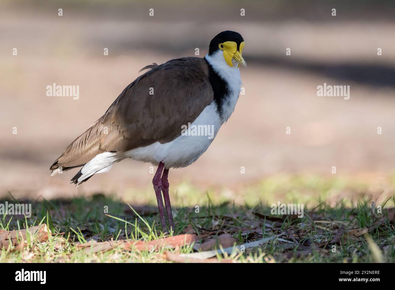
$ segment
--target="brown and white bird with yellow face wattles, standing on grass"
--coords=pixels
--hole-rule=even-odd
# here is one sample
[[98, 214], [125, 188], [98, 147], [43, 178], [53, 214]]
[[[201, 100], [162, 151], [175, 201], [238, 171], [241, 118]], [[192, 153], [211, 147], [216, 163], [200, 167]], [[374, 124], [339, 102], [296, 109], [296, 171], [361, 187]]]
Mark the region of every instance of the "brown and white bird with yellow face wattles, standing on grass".
[[194, 163], [235, 110], [240, 65], [247, 67], [244, 46], [241, 34], [223, 31], [210, 41], [203, 58], [143, 67], [139, 72], [147, 71], [55, 160], [51, 176], [81, 167], [70, 180], [78, 187], [126, 158], [151, 163], [158, 167], [152, 184], [162, 229], [174, 231], [169, 169]]

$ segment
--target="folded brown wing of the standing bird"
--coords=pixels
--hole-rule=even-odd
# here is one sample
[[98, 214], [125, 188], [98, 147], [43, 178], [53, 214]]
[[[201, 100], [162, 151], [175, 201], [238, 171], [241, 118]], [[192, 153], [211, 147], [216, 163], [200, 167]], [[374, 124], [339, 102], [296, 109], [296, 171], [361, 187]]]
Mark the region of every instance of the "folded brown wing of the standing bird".
[[79, 167], [107, 151], [170, 142], [181, 135], [182, 125], [192, 123], [213, 100], [203, 58], [169, 60], [127, 86], [107, 112], [77, 137], [50, 169]]

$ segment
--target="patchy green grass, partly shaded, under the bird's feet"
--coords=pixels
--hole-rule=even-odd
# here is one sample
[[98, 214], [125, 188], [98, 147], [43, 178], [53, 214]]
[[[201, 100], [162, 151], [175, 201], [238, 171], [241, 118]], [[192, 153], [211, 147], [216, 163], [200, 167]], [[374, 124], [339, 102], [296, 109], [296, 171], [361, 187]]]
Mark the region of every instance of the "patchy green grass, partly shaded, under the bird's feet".
[[[120, 245], [93, 253], [90, 246], [80, 246], [90, 243], [90, 239], [100, 242], [163, 238], [165, 234], [161, 232], [155, 213], [154, 194], [146, 194], [150, 197], [144, 207], [132, 204], [140, 217], [126, 202], [111, 195], [33, 201], [34, 212], [30, 219], [18, 220], [15, 216], [3, 215], [0, 228], [13, 230], [42, 222], [49, 226], [53, 235], [43, 243], [28, 237], [23, 249], [11, 247], [0, 251], [0, 262], [169, 262], [163, 255], [168, 249], [163, 248], [159, 251], [124, 251]], [[195, 234], [204, 236], [199, 242], [229, 233], [240, 245], [284, 233], [261, 247], [246, 249], [245, 253], [235, 250], [230, 255], [218, 255], [220, 259], [234, 262], [395, 262], [394, 221], [391, 210], [386, 210], [393, 208], [395, 200], [381, 195], [379, 199], [372, 199], [373, 196], [363, 183], [276, 177], [230, 193], [196, 192], [184, 184], [171, 198], [175, 234], [184, 233], [189, 226]], [[11, 196], [8, 200], [15, 203]], [[271, 215], [270, 204], [277, 201], [303, 203], [304, 217], [292, 219]], [[374, 210], [372, 201], [375, 202]], [[106, 206], [108, 213], [105, 213]], [[198, 213], [196, 206], [199, 206]], [[384, 208], [382, 213], [377, 213], [377, 206]], [[282, 221], [274, 221], [274, 217], [281, 217]], [[342, 227], [345, 234], [334, 240]], [[357, 237], [348, 235], [347, 231], [358, 228], [367, 228], [368, 233]], [[170, 251], [178, 254], [194, 252], [192, 246]]]

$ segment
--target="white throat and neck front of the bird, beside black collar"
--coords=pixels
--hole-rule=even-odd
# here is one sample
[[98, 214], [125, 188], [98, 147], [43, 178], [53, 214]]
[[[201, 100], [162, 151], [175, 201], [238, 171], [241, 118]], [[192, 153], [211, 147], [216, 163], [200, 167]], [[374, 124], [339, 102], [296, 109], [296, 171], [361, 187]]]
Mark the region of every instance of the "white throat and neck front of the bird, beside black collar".
[[232, 60], [233, 67], [228, 65], [224, 58], [224, 53], [220, 50], [212, 55], [205, 56], [207, 62], [211, 64], [214, 71], [228, 84], [229, 95], [225, 97], [222, 106], [222, 120], [226, 122], [236, 107], [239, 98], [240, 88], [242, 86], [240, 70], [237, 68], [239, 64], [236, 60]]

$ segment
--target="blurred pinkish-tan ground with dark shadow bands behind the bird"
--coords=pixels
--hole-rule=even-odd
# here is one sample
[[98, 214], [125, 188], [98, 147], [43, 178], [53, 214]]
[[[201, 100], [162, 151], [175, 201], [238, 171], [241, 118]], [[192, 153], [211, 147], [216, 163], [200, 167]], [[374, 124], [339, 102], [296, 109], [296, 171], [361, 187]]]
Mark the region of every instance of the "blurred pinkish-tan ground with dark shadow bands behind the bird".
[[[336, 176], [378, 187], [393, 180], [393, 0], [0, 5], [0, 196], [127, 196], [150, 189], [150, 164], [129, 159], [78, 189], [69, 184], [77, 170], [51, 177], [49, 166], [142, 67], [194, 56], [196, 48], [203, 57], [223, 30], [246, 41], [245, 95], [207, 152], [190, 167], [170, 170], [173, 192], [184, 183], [204, 193], [237, 191], [279, 175], [333, 178], [333, 166]], [[46, 86], [53, 83], [78, 85], [79, 99], [47, 97]], [[317, 86], [324, 83], [350, 86], [350, 99], [318, 97]]]

